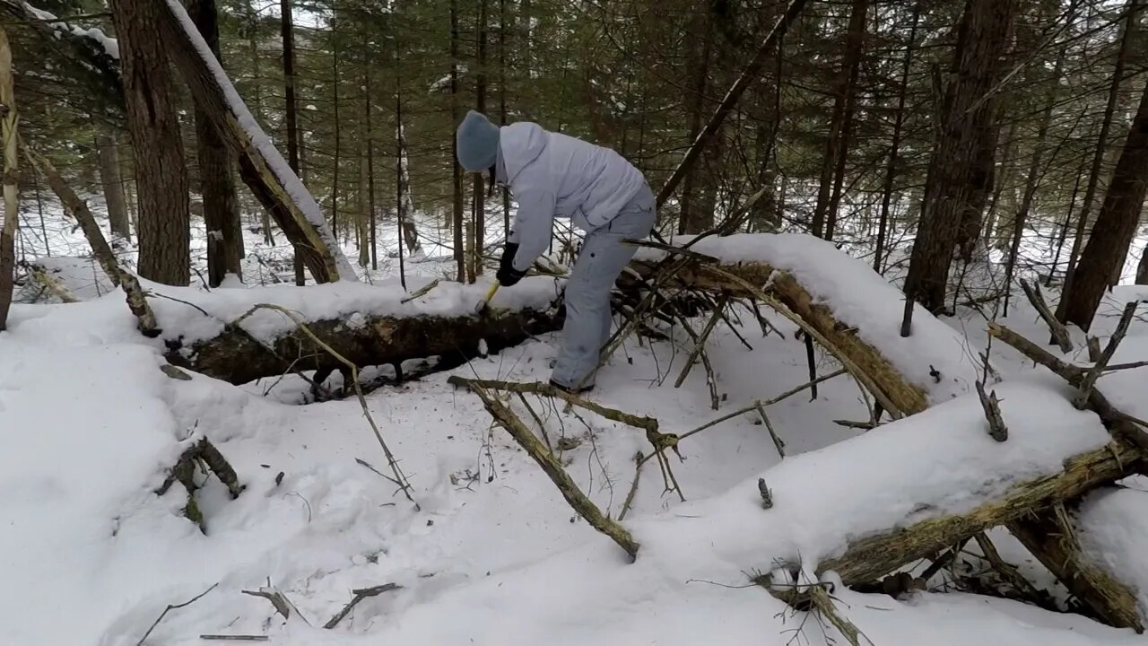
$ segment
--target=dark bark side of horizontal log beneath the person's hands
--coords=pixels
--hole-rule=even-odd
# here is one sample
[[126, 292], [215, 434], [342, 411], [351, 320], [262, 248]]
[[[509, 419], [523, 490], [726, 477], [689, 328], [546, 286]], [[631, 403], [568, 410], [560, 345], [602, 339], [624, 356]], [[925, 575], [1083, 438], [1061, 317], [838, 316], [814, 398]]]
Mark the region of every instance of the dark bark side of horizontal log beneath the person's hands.
[[[372, 316], [356, 324], [343, 318], [308, 321], [323, 343], [359, 367], [402, 364], [439, 356], [445, 366], [518, 345], [533, 334], [557, 330], [553, 312], [499, 310], [483, 316]], [[168, 361], [232, 384], [278, 377], [293, 370], [329, 372], [346, 366], [307, 334], [294, 330], [256, 339], [238, 325], [189, 347], [168, 341]]]

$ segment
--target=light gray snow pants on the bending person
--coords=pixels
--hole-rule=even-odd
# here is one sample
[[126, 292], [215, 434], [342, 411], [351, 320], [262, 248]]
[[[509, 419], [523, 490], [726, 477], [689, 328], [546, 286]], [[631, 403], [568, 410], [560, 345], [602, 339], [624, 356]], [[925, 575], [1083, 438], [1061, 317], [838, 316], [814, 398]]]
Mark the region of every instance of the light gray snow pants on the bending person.
[[637, 247], [622, 240], [642, 239], [657, 222], [656, 200], [643, 187], [608, 224], [585, 234], [582, 252], [566, 283], [566, 323], [563, 346], [551, 379], [566, 387], [594, 385], [603, 346], [610, 340], [613, 322], [610, 292]]

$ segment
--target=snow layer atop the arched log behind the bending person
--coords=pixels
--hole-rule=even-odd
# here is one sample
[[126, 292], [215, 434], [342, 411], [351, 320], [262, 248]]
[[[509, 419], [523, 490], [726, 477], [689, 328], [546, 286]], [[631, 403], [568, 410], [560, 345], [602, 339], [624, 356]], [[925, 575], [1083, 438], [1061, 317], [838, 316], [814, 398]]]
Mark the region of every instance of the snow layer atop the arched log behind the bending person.
[[[684, 245], [692, 239], [674, 236], [667, 243]], [[791, 274], [835, 318], [855, 328], [859, 338], [928, 393], [932, 403], [972, 392], [978, 360], [962, 334], [918, 308], [913, 334], [902, 338], [905, 294], [832, 243], [805, 233], [738, 233], [704, 238], [690, 249], [722, 263], [763, 263]], [[665, 255], [639, 248], [635, 257], [653, 261]]]

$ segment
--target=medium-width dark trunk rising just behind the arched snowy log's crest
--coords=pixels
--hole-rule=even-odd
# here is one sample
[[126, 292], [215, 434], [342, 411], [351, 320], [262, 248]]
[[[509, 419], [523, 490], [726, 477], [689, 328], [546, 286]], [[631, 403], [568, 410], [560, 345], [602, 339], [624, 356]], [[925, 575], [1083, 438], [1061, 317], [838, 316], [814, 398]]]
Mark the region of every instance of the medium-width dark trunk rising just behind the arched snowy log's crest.
[[845, 179], [845, 160], [848, 156], [850, 133], [853, 128], [853, 111], [856, 103], [856, 86], [861, 75], [861, 46], [864, 40], [864, 17], [869, 0], [853, 0], [850, 11], [850, 31], [846, 36], [845, 55], [835, 85], [833, 111], [829, 120], [829, 139], [825, 143], [825, 159], [821, 168], [821, 186], [817, 189], [817, 205], [813, 212], [813, 234], [827, 240], [833, 238], [837, 226], [837, 208], [841, 199]]

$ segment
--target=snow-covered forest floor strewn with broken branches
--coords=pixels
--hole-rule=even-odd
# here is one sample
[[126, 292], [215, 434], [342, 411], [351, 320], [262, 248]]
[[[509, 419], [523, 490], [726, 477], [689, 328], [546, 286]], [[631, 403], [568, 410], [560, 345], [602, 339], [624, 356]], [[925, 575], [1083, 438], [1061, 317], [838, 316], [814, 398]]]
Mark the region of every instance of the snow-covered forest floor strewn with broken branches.
[[[394, 229], [380, 237], [394, 245]], [[55, 268], [92, 271], [59, 260], [72, 255], [57, 248]], [[394, 268], [387, 261], [373, 278]], [[256, 266], [263, 267], [249, 256], [245, 271], [258, 284]], [[437, 269], [428, 268], [440, 263], [421, 266], [433, 276]], [[869, 418], [858, 385], [836, 377], [815, 399], [806, 392], [769, 408], [784, 460], [755, 417], [742, 415], [683, 441], [684, 461], [672, 457], [685, 502], [664, 491], [657, 464], [647, 463], [625, 521], [642, 544], [629, 563], [492, 426], [476, 397], [447, 383], [451, 375], [545, 380], [556, 336], [366, 395], [410, 477], [416, 506], [375, 472], [389, 474], [387, 461], [354, 397], [303, 405], [308, 387], [294, 376], [245, 386], [197, 375], [169, 378], [160, 371], [162, 341], [141, 337], [123, 297], [84, 271], [61, 274], [82, 302], [16, 305], [9, 332], [0, 334], [0, 644], [185, 646], [209, 643], [203, 635], [309, 646], [843, 644], [817, 616], [794, 613], [750, 576], [768, 570], [777, 555], [822, 549], [825, 535], [848, 535], [851, 523], [895, 517], [916, 491], [883, 489], [898, 477], [918, 478], [928, 492], [975, 483], [980, 474], [982, 466], [961, 460], [959, 446], [945, 445], [945, 424], [968, 417], [961, 402], [897, 430], [859, 431], [835, 423]], [[391, 278], [379, 289], [398, 287]], [[231, 290], [161, 291], [202, 306], [224, 302]], [[1108, 294], [1093, 332], [1104, 340], [1124, 302], [1143, 298], [1148, 287]], [[1042, 343], [1047, 330], [1023, 295], [1013, 303], [999, 322]], [[180, 307], [158, 306], [161, 325], [178, 325]], [[762, 336], [752, 318], [739, 330], [752, 349], [724, 324], [711, 336], [719, 410], [711, 408], [700, 368], [673, 386], [691, 347], [684, 334], [630, 340], [589, 397], [654, 416], [662, 432], [683, 433], [805, 384], [809, 368], [796, 328], [767, 317], [784, 338]], [[982, 313], [962, 308], [945, 323], [964, 336], [968, 356], [988, 346]], [[1000, 344], [990, 355], [1006, 382], [1003, 397], [1027, 417], [1015, 432], [1017, 446], [1040, 454], [1033, 460], [1056, 459], [1095, 439], [1070, 406], [1042, 399], [1055, 383], [1047, 372]], [[1133, 322], [1116, 361], [1145, 359], [1148, 314]], [[836, 369], [819, 351], [819, 374]], [[1141, 412], [1148, 408], [1141, 401], [1146, 385], [1148, 368], [1101, 380], [1114, 402]], [[566, 470], [618, 517], [635, 479], [635, 454], [649, 448], [642, 433], [549, 400], [533, 402]], [[905, 474], [876, 472], [890, 461], [890, 433], [914, 432], [940, 446], [903, 446]], [[831, 448], [859, 436], [864, 441], [850, 445], [848, 455]], [[218, 478], [207, 478], [196, 492], [205, 533], [184, 517], [181, 485], [154, 492], [186, 440], [197, 437], [210, 438], [246, 485], [232, 500]], [[759, 477], [777, 492], [775, 509], [761, 509]], [[1125, 484], [1140, 494], [1139, 480]], [[807, 498], [817, 505], [786, 508], [786, 494], [801, 491], [813, 492]], [[1148, 591], [1148, 531], [1135, 531], [1148, 517], [1148, 492], [1141, 495], [1095, 501], [1088, 509], [1095, 536], [1085, 539]], [[1006, 560], [1061, 594], [1007, 533], [991, 535]], [[963, 560], [976, 566], [976, 548]], [[945, 576], [903, 600], [843, 587], [835, 599], [878, 646], [1148, 644], [1148, 637], [1078, 615], [957, 592]], [[398, 587], [362, 599], [334, 628], [324, 628], [354, 590], [383, 584]], [[261, 589], [288, 600], [288, 618], [267, 599], [243, 593]]]

